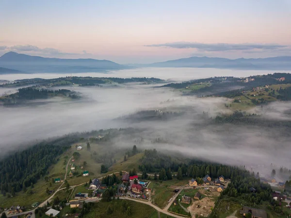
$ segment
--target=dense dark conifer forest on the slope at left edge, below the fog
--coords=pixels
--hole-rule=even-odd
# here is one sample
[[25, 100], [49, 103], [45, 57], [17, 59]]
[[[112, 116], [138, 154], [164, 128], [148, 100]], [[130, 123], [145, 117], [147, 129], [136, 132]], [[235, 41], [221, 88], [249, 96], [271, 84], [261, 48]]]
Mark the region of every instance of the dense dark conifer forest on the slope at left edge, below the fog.
[[40, 142], [23, 151], [17, 151], [0, 161], [0, 191], [12, 195], [35, 184], [48, 174], [48, 168], [57, 162], [60, 154], [77, 142], [77, 135], [67, 135]]

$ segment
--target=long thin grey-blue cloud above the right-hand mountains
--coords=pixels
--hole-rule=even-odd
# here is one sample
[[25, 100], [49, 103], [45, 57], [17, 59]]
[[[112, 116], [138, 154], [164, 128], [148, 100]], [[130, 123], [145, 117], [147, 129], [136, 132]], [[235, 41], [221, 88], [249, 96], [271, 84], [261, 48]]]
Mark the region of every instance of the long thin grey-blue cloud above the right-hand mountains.
[[197, 49], [200, 52], [205, 51], [249, 51], [249, 50], [278, 50], [289, 48], [288, 45], [279, 44], [256, 44], [256, 43], [197, 43], [197, 42], [172, 42], [163, 44], [146, 45], [147, 47], [167, 47], [176, 49]]

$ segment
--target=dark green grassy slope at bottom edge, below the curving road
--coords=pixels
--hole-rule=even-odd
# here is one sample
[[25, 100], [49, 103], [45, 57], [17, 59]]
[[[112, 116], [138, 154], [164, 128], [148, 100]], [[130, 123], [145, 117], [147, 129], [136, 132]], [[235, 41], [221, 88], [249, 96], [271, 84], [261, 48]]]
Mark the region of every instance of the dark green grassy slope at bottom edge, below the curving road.
[[[94, 208], [91, 209], [89, 214], [86, 214], [84, 218], [128, 218], [127, 213], [122, 213], [121, 210], [121, 200], [113, 200], [111, 202], [101, 202], [96, 203]], [[135, 201], [127, 201], [128, 206], [131, 210], [130, 217], [134, 218], [155, 218], [153, 214], [156, 212], [154, 208], [149, 205], [135, 202]], [[107, 214], [108, 206], [113, 208], [112, 214]]]

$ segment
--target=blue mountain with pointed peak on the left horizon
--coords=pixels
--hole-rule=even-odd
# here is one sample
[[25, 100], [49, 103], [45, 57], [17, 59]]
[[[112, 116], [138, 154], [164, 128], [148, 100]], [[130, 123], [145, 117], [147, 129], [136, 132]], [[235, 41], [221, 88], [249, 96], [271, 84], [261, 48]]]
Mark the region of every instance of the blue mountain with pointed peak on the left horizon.
[[46, 58], [13, 51], [0, 57], [0, 66], [30, 73], [104, 72], [130, 68], [108, 60]]

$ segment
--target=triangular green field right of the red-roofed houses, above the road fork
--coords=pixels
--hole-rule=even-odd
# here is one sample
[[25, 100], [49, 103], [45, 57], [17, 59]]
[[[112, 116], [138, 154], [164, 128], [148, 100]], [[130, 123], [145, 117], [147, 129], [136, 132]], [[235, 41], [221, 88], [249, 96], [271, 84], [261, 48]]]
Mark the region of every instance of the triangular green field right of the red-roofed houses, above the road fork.
[[188, 181], [179, 181], [177, 179], [159, 182], [151, 182], [148, 188], [151, 188], [151, 199], [159, 207], [163, 208], [168, 204], [168, 201], [175, 194], [173, 191], [179, 185], [187, 184]]

